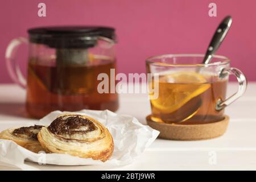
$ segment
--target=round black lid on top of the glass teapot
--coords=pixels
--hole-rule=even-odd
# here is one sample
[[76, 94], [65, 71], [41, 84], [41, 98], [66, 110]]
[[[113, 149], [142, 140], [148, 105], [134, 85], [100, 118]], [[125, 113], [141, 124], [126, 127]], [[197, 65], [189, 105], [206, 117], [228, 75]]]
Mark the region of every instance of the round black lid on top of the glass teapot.
[[98, 26], [55, 26], [28, 30], [30, 42], [53, 48], [89, 48], [97, 44], [99, 36], [115, 40], [115, 29]]

